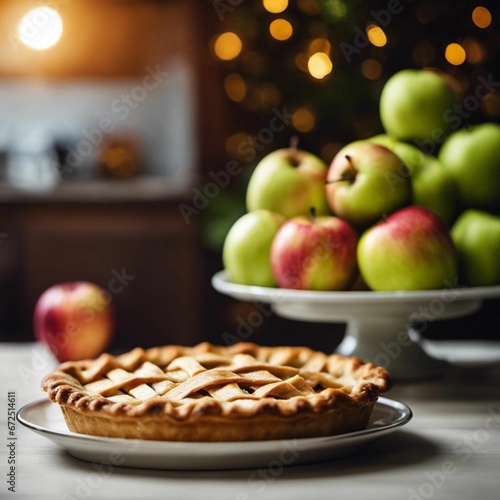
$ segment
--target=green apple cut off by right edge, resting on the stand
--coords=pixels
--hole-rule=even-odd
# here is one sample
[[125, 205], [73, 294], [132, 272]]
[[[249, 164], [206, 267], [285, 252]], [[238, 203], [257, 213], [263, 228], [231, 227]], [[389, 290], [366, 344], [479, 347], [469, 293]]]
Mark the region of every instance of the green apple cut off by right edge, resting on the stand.
[[500, 285], [500, 216], [468, 209], [451, 229], [460, 279], [468, 286]]

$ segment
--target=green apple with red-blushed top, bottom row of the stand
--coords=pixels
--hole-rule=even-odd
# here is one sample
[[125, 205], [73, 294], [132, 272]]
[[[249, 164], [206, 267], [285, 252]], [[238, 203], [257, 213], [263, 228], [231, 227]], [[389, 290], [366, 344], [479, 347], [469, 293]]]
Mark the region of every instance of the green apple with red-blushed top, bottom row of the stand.
[[402, 208], [368, 228], [357, 258], [362, 278], [375, 291], [446, 288], [457, 276], [450, 231], [423, 207]]

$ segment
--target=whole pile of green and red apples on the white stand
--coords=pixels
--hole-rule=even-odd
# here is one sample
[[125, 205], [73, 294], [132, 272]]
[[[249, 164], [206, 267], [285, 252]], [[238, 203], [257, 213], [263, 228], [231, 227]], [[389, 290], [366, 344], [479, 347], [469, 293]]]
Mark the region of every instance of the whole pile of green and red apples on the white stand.
[[407, 291], [500, 284], [500, 125], [466, 127], [447, 78], [402, 70], [380, 96], [385, 134], [327, 165], [297, 144], [264, 157], [228, 232], [234, 283]]

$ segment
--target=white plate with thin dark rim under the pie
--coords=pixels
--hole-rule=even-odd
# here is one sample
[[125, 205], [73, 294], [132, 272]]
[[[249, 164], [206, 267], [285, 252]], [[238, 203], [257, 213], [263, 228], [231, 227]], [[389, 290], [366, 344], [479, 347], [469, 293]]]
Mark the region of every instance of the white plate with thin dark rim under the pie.
[[379, 398], [363, 431], [319, 438], [229, 443], [177, 443], [77, 434], [68, 431], [61, 410], [49, 400], [24, 406], [17, 418], [70, 455], [90, 462], [145, 469], [223, 470], [297, 465], [352, 455], [407, 424], [412, 412], [403, 403]]

